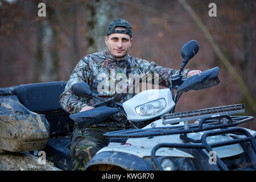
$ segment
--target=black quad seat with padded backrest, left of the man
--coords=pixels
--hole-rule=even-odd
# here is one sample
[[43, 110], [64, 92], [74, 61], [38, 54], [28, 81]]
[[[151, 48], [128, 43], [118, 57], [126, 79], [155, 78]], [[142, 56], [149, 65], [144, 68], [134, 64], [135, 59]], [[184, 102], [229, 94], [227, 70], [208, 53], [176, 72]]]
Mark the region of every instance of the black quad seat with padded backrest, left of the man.
[[50, 125], [51, 138], [44, 148], [47, 160], [60, 169], [70, 170], [69, 136], [73, 129], [73, 121], [59, 103], [60, 94], [63, 93], [66, 84], [64, 81], [55, 81], [20, 85], [16, 88], [16, 95], [27, 109], [44, 114]]

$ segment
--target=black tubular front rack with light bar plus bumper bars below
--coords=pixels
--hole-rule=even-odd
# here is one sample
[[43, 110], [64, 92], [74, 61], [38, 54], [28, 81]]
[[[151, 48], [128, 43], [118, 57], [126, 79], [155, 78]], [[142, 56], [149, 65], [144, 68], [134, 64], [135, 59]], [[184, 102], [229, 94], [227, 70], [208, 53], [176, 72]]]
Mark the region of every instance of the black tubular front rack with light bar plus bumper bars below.
[[[247, 158], [252, 164], [252, 168], [256, 170], [256, 135], [251, 135], [249, 131], [242, 127], [234, 127], [243, 123], [253, 121], [251, 116], [231, 116], [232, 114], [245, 113], [245, 105], [230, 105], [222, 107], [212, 107], [208, 109], [200, 109], [186, 111], [180, 113], [165, 114], [162, 116], [163, 125], [165, 127], [154, 127], [150, 129], [130, 129], [119, 130], [105, 133], [105, 137], [112, 138], [139, 138], [139, 137], [155, 137], [160, 135], [180, 134], [180, 139], [183, 143], [159, 143], [152, 148], [151, 159], [156, 169], [163, 170], [155, 153], [156, 150], [162, 147], [178, 148], [178, 149], [201, 149], [208, 152], [213, 151], [214, 147], [228, 146], [230, 144], [239, 143], [243, 146]], [[194, 121], [194, 123], [190, 123]], [[184, 122], [184, 125], [175, 126], [175, 124]], [[194, 140], [188, 138], [188, 133], [196, 133], [205, 131], [201, 139]], [[235, 134], [233, 139], [222, 142], [208, 143], [207, 137], [214, 135]], [[238, 136], [238, 137], [237, 137]], [[244, 137], [245, 136], [245, 137]], [[246, 147], [245, 147], [246, 146]], [[217, 156], [217, 167], [219, 170], [229, 170], [226, 164]]]

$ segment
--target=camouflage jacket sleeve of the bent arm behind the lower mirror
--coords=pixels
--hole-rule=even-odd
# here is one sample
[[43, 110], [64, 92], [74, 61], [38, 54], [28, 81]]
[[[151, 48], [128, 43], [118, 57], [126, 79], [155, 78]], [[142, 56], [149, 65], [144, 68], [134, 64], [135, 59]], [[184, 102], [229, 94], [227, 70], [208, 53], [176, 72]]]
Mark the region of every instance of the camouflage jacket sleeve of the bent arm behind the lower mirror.
[[[85, 57], [84, 57], [85, 59]], [[88, 106], [88, 99], [80, 98], [72, 94], [71, 86], [77, 82], [89, 82], [90, 69], [89, 63], [85, 63], [85, 61], [80, 60], [80, 62], [76, 65], [73, 70], [67, 85], [65, 86], [64, 92], [60, 95], [60, 105], [63, 107], [65, 111], [69, 114], [79, 113], [79, 111], [84, 106]]]

